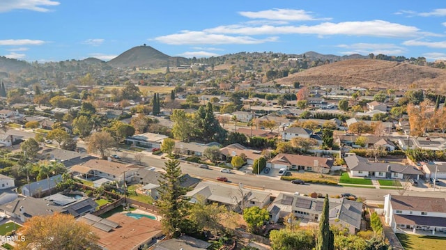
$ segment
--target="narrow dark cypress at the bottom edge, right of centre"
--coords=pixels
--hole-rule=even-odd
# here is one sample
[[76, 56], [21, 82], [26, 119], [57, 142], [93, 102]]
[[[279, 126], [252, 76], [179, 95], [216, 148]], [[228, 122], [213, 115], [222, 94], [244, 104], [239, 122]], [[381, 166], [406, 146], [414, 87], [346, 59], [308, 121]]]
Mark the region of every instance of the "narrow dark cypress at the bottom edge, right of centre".
[[330, 204], [328, 203], [328, 194], [325, 194], [323, 200], [323, 208], [321, 214], [321, 220], [319, 221], [319, 231], [316, 242], [316, 250], [334, 250], [334, 234], [330, 230]]

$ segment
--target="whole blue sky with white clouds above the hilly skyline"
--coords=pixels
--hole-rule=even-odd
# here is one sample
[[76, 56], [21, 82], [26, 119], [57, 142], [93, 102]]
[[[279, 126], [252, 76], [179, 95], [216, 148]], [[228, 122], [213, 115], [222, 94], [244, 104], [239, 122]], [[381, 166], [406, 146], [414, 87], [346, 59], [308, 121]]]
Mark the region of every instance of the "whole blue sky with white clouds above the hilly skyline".
[[0, 0], [0, 23], [0, 55], [25, 61], [108, 61], [144, 43], [189, 58], [314, 51], [446, 59], [439, 0]]

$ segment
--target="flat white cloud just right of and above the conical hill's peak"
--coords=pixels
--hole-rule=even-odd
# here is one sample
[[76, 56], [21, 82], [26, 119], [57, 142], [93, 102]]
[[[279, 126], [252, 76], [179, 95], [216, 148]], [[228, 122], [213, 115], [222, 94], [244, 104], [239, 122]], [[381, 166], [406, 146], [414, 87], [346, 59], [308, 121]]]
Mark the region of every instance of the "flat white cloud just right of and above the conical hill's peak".
[[221, 34], [207, 33], [203, 31], [181, 31], [181, 33], [154, 38], [157, 42], [168, 45], [224, 45], [240, 44], [253, 45], [263, 42], [274, 42], [278, 38], [270, 37], [265, 39], [256, 39], [249, 36], [225, 36]]

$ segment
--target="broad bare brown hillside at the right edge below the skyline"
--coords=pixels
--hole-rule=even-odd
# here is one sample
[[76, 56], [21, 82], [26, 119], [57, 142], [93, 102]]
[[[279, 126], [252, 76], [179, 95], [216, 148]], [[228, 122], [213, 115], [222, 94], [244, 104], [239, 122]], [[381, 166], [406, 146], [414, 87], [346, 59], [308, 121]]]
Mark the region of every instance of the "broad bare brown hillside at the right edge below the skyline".
[[394, 61], [350, 59], [321, 65], [275, 80], [277, 84], [336, 84], [403, 89], [410, 84], [419, 88], [436, 88], [446, 82], [446, 70]]

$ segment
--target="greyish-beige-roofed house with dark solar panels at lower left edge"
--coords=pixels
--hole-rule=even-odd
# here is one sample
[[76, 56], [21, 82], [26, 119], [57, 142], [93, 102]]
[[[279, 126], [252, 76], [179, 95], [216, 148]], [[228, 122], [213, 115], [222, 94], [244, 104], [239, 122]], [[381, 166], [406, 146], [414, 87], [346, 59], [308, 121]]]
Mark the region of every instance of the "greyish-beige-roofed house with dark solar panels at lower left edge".
[[79, 217], [86, 212], [94, 211], [97, 206], [98, 204], [91, 198], [76, 200], [67, 196], [62, 197], [59, 194], [59, 196], [54, 196], [49, 200], [31, 196], [18, 196], [14, 201], [0, 205], [0, 210], [10, 217], [26, 222], [31, 217], [51, 215], [54, 212]]

